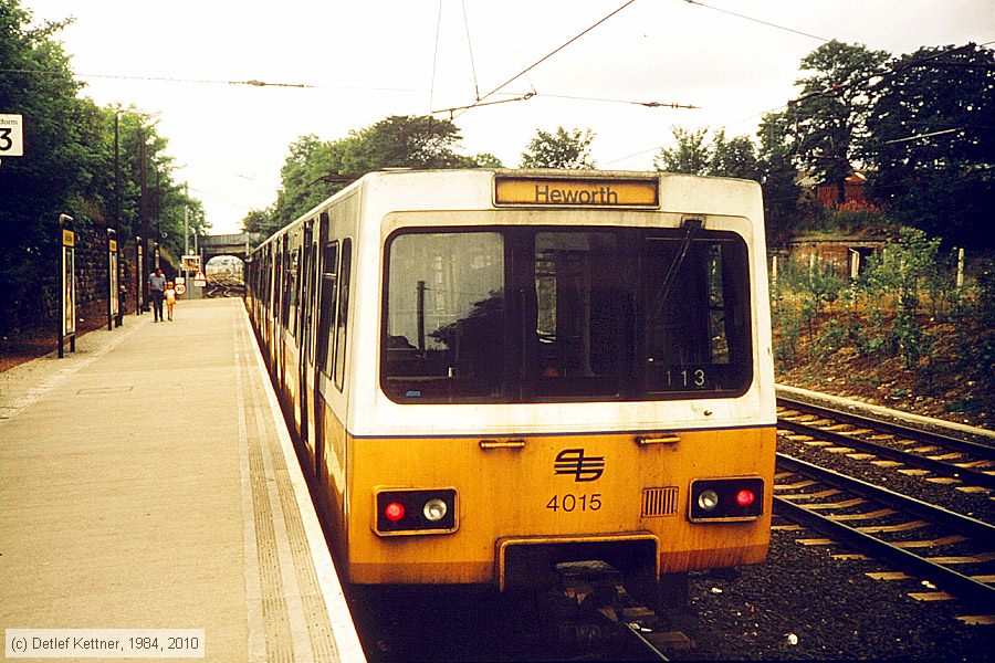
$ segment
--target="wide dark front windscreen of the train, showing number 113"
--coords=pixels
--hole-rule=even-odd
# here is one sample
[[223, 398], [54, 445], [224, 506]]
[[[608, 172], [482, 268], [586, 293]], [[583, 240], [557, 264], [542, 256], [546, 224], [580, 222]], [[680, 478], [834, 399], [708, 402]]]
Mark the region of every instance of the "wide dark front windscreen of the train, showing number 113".
[[715, 398], [752, 380], [731, 232], [400, 231], [386, 264], [380, 385], [398, 402]]

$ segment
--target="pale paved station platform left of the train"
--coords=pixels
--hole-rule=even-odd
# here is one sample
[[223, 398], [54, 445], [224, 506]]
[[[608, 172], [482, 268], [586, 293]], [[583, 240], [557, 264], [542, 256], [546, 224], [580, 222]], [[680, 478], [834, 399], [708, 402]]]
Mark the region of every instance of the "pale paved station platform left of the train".
[[0, 629], [8, 659], [12, 630], [202, 629], [181, 657], [365, 660], [240, 299], [0, 373]]

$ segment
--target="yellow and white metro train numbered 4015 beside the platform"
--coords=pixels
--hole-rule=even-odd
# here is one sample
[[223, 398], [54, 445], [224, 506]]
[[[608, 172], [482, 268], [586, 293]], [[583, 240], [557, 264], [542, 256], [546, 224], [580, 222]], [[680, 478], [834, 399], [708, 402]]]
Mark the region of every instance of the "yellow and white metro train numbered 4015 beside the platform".
[[663, 600], [766, 556], [756, 182], [373, 172], [252, 252], [245, 304], [345, 582], [600, 560]]

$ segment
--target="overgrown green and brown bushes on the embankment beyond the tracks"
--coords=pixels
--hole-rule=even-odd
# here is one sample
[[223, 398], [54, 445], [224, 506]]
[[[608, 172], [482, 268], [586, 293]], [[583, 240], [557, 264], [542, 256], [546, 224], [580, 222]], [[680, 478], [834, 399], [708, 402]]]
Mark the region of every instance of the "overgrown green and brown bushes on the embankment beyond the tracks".
[[957, 255], [903, 228], [857, 278], [818, 262], [789, 263], [771, 291], [783, 371], [831, 364], [851, 385], [889, 376], [873, 387], [891, 397], [970, 387], [973, 396], [949, 407], [995, 412], [995, 264], [978, 265], [957, 286]]

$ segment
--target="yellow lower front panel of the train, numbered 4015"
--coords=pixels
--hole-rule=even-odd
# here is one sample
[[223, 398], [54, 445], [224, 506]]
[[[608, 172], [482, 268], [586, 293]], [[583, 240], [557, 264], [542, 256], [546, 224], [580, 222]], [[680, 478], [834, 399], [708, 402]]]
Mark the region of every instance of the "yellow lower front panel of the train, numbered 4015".
[[[503, 585], [511, 545], [645, 539], [657, 571], [751, 564], [766, 555], [773, 428], [519, 438], [349, 439], [349, 580]], [[692, 482], [752, 478], [758, 516], [691, 522]], [[377, 493], [452, 490], [438, 533], [378, 532]]]

